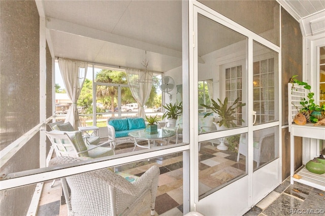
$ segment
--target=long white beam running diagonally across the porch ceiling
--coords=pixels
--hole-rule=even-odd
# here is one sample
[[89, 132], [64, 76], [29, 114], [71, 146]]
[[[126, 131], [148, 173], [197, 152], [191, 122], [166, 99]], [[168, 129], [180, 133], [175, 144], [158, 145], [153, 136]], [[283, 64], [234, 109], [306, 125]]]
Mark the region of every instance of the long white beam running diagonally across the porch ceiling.
[[159, 53], [167, 56], [172, 56], [176, 58], [182, 58], [182, 52], [169, 49], [166, 47], [157, 46], [154, 44], [149, 44], [146, 42], [126, 38], [120, 35], [112, 34], [106, 31], [89, 28], [86, 26], [74, 24], [71, 22], [54, 19], [47, 17], [46, 18], [46, 28], [67, 32], [75, 35], [79, 35], [80, 37], [92, 38], [95, 40], [105, 41], [114, 44], [120, 44], [127, 47], [132, 47], [136, 49], [146, 50], [149, 52]]

